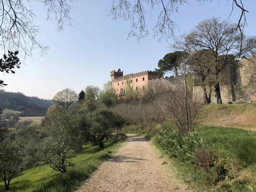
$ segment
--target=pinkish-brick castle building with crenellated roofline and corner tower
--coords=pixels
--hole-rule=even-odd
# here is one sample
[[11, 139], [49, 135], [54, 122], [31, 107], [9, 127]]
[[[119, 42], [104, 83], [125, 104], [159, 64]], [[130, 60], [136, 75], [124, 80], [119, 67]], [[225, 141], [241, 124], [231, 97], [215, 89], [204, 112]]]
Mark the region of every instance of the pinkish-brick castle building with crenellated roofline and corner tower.
[[123, 71], [120, 69], [111, 71], [111, 86], [114, 93], [117, 95], [125, 94], [125, 87], [131, 84], [132, 90], [140, 91], [144, 90], [149, 80], [157, 79], [157, 73], [155, 71], [143, 71], [140, 73], [131, 73], [123, 75]]

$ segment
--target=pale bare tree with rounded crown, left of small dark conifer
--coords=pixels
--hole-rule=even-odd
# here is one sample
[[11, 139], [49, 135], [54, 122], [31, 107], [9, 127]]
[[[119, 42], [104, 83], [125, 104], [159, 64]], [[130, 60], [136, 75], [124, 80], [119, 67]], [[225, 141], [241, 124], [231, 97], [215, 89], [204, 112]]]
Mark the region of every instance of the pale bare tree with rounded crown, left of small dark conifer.
[[77, 101], [77, 94], [74, 90], [66, 88], [59, 91], [52, 98], [52, 102], [62, 108], [63, 111], [68, 110], [68, 108], [74, 105]]

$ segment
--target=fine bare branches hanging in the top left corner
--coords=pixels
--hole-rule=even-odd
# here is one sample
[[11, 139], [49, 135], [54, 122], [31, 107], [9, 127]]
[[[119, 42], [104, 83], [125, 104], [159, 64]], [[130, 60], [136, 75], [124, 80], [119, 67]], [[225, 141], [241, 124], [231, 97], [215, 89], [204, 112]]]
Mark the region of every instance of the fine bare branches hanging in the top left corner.
[[[51, 15], [57, 20], [58, 31], [63, 26], [71, 25], [70, 3], [73, 0], [36, 0], [47, 9], [47, 19]], [[37, 40], [40, 27], [34, 24], [37, 17], [32, 9], [30, 0], [1, 0], [0, 1], [0, 44], [1, 49], [19, 50], [31, 56], [32, 49], [39, 48], [41, 54], [47, 52], [48, 46]]]

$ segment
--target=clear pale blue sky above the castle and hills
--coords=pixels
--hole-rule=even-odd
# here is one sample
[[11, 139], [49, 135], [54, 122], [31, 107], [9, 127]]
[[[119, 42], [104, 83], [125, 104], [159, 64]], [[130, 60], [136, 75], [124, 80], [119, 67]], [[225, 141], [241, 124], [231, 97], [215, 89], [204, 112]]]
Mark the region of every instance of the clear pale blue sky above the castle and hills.
[[[221, 17], [228, 19], [232, 0], [213, 0], [204, 4], [189, 0], [188, 5], [180, 6], [179, 12], [172, 15], [179, 29], [175, 35], [188, 33], [195, 25], [206, 18]], [[245, 35], [256, 35], [255, 0], [243, 0], [247, 14]], [[0, 74], [8, 86], [6, 91], [21, 92], [27, 96], [52, 99], [67, 87], [79, 93], [88, 85], [103, 87], [111, 80], [110, 72], [121, 69], [124, 74], [137, 73], [157, 68], [158, 61], [171, 52], [172, 39], [159, 43], [153, 38], [153, 27], [157, 23], [160, 7], [150, 14], [147, 11], [149, 35], [138, 41], [128, 38], [131, 31], [130, 21], [113, 20], [107, 17], [111, 10], [111, 0], [78, 0], [72, 3], [72, 25], [65, 26], [63, 32], [57, 31], [56, 20], [46, 20], [44, 6], [33, 3], [38, 16], [35, 24], [41, 27], [37, 39], [48, 45], [49, 50], [41, 57], [34, 49], [32, 58], [26, 58], [15, 74]], [[236, 7], [230, 20], [237, 23], [241, 12]], [[22, 55], [20, 56], [22, 60]]]

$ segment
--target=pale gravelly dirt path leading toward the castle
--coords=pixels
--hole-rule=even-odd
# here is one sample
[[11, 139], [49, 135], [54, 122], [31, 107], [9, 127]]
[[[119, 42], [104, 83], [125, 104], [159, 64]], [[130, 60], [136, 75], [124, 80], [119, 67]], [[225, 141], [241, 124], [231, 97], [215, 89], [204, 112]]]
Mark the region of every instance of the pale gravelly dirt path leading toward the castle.
[[161, 163], [149, 141], [130, 135], [78, 192], [186, 191], [185, 186], [166, 174]]

